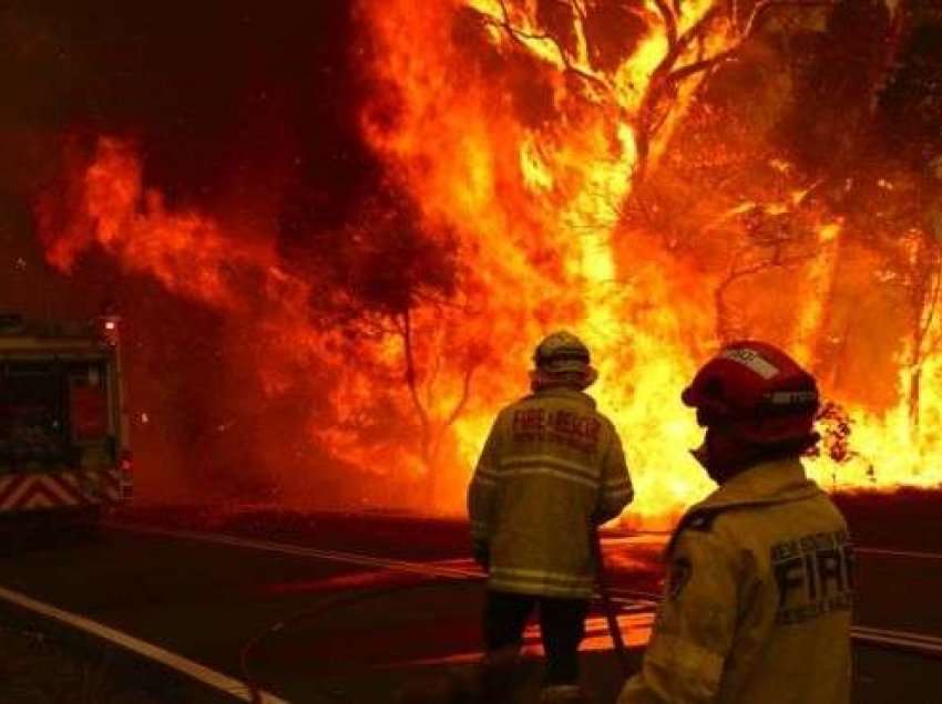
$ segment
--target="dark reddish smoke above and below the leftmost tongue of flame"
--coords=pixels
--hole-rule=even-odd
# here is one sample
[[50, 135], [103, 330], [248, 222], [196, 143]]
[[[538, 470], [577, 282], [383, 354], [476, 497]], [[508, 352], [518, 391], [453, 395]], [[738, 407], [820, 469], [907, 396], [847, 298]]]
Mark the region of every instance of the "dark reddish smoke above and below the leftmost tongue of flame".
[[[381, 178], [359, 135], [361, 41], [348, 2], [2, 3], [0, 309], [124, 317], [145, 498], [264, 488], [266, 463], [311, 452], [300, 428], [316, 400], [263, 398], [250, 355], [226, 359], [233, 344], [250, 349], [243, 331], [101, 252], [71, 276], [51, 269], [37, 198], [62, 188], [66, 162], [98, 135], [126, 136], [170, 207], [274, 231], [304, 262], [324, 244], [311, 232], [344, 231]], [[285, 428], [278, 456], [263, 416]]]

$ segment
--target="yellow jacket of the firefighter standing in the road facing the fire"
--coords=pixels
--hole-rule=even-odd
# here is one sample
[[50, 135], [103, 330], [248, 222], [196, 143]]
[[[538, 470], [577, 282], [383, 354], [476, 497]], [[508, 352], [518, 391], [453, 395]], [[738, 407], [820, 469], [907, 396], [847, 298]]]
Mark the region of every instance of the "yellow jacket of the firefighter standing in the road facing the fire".
[[559, 598], [593, 591], [594, 525], [633, 496], [622, 441], [591, 396], [546, 389], [508, 406], [468, 493], [490, 589]]

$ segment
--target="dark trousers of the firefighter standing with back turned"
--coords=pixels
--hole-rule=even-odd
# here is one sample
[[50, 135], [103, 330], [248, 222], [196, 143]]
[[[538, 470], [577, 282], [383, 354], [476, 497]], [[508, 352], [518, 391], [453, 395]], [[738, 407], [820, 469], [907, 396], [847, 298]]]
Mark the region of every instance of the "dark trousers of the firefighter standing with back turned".
[[585, 636], [585, 599], [551, 599], [488, 590], [484, 604], [484, 644], [488, 652], [520, 646], [523, 629], [534, 609], [540, 612], [540, 636], [546, 652], [546, 684], [576, 684], [578, 644]]

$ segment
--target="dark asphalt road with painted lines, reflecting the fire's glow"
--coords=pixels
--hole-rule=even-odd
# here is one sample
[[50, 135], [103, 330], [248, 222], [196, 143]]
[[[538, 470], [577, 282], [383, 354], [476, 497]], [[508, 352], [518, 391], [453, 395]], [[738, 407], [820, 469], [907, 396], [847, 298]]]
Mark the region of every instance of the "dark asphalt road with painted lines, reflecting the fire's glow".
[[[9, 547], [0, 555], [0, 587], [238, 679], [239, 655], [252, 642], [252, 675], [291, 702], [392, 702], [403, 686], [439, 686], [446, 673], [470, 676], [482, 586], [471, 577], [458, 521], [165, 510], [129, 518], [177, 532], [113, 528], [93, 540]], [[651, 619], [638, 592], [657, 590], [662, 543], [659, 536], [606, 541], [635, 645]], [[900, 553], [899, 546], [862, 550], [858, 584], [858, 624], [942, 636], [942, 557]], [[280, 625], [268, 630], [273, 624]], [[617, 664], [598, 614], [590, 627], [586, 680], [600, 703], [611, 702]], [[928, 693], [942, 691], [942, 659], [872, 644], [856, 653], [854, 702], [897, 702], [901, 693], [931, 702]], [[537, 686], [534, 660], [520, 701], [532, 701]]]

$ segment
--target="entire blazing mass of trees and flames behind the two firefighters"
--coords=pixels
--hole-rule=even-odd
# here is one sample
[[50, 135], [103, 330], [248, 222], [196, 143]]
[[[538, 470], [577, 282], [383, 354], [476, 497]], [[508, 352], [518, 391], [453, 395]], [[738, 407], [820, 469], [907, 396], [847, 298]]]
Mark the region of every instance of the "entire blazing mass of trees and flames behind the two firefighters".
[[249, 330], [260, 342], [239, 359], [270, 397], [309, 400], [317, 462], [421, 475], [427, 503], [460, 496], [495, 406], [557, 327], [593, 349], [644, 515], [708, 488], [683, 458], [665, 470], [664, 448], [697, 444], [677, 390], [734, 335], [789, 348], [841, 402], [836, 444], [862, 468], [821, 458], [820, 476], [926, 480], [922, 428], [942, 423], [931, 12], [364, 0], [356, 20], [351, 122], [372, 170], [340, 221], [276, 193], [277, 218], [234, 225], [216, 204], [162, 201], [141, 159], [105, 148], [50, 259], [98, 246]]

